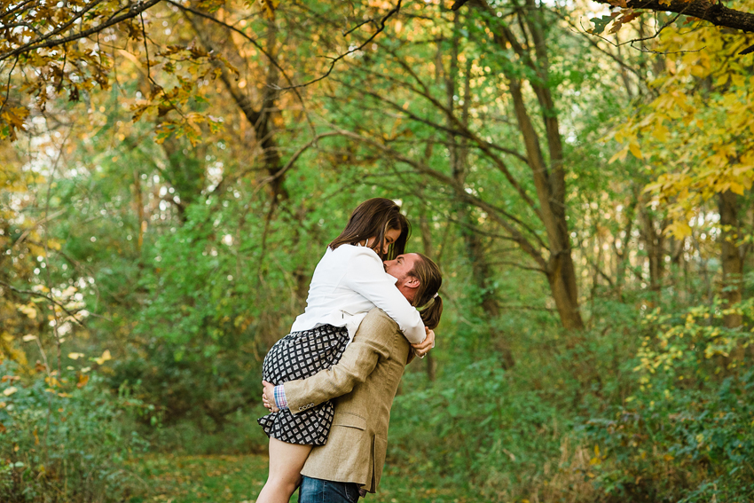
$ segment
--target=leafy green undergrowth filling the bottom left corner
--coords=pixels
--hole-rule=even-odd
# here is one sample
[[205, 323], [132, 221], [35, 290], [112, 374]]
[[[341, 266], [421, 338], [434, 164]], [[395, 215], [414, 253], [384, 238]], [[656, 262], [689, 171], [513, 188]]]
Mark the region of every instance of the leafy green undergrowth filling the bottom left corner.
[[136, 483], [125, 462], [146, 448], [135, 432], [124, 429], [141, 403], [125, 389], [112, 396], [96, 374], [87, 382], [66, 372], [56, 383], [56, 377], [23, 376], [19, 370], [11, 362], [0, 364], [0, 499], [122, 500]]

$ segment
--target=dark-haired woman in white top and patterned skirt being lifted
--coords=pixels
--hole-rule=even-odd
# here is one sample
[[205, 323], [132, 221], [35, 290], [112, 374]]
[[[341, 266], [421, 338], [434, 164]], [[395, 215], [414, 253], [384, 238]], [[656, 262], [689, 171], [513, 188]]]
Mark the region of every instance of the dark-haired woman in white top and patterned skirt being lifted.
[[[434, 345], [434, 332], [425, 328], [382, 264], [404, 253], [409, 233], [408, 220], [392, 200], [358, 205], [314, 270], [306, 310], [264, 358], [264, 381], [279, 385], [305, 379], [338, 363], [374, 307], [397, 322], [417, 354]], [[303, 413], [283, 409], [258, 420], [270, 436], [270, 473], [257, 503], [287, 503], [312, 446], [326, 443], [333, 416], [334, 406], [326, 402]]]

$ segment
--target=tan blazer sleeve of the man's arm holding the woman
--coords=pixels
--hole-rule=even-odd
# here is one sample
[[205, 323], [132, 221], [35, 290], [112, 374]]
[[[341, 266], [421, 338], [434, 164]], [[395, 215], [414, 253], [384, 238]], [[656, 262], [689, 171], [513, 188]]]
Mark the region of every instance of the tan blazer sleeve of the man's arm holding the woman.
[[389, 358], [396, 336], [395, 321], [379, 309], [369, 311], [340, 362], [307, 379], [284, 384], [288, 409], [302, 413], [350, 393], [357, 383], [366, 380], [381, 358]]

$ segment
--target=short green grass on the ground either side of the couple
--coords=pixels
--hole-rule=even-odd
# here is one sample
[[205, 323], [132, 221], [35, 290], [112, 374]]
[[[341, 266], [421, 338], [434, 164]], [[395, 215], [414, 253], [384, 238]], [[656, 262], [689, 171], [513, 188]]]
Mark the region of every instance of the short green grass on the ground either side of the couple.
[[[151, 455], [137, 460], [133, 472], [141, 480], [129, 503], [254, 503], [267, 477], [267, 458], [244, 456]], [[410, 470], [385, 467], [380, 489], [369, 503], [470, 503], [478, 501], [463, 488], [427, 481]], [[297, 501], [294, 495], [291, 501]]]

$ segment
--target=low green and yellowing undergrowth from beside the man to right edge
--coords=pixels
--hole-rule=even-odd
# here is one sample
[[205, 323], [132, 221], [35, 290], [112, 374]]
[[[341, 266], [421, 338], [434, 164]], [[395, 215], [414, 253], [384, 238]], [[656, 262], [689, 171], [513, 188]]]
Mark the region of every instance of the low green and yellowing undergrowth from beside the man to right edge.
[[638, 318], [596, 301], [575, 345], [546, 323], [499, 320], [521, 335], [515, 353], [526, 357], [509, 371], [497, 355], [441, 359], [434, 383], [409, 372], [390, 460], [491, 501], [749, 501], [754, 372], [741, 350], [751, 334], [722, 320], [730, 310], [749, 319], [750, 303], [669, 305]]

